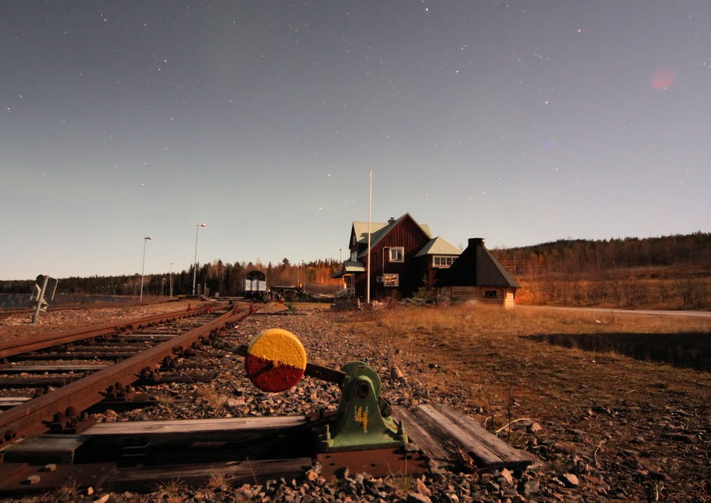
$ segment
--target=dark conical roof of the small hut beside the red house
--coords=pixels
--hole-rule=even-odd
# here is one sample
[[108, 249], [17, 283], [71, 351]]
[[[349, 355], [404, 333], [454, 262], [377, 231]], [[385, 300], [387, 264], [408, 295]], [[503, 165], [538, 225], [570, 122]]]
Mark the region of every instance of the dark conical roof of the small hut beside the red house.
[[449, 269], [442, 270], [437, 280], [440, 286], [521, 287], [515, 277], [493, 258], [481, 238], [469, 239], [466, 250]]

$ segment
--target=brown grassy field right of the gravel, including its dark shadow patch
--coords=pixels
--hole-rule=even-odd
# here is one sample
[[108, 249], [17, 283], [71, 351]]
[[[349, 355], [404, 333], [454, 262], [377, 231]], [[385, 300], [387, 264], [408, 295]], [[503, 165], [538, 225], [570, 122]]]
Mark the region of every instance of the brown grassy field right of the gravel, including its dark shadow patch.
[[[479, 415], [554, 471], [587, 465], [605, 485], [631, 487], [604, 493], [623, 499], [711, 494], [711, 374], [686, 368], [693, 359], [684, 356], [708, 359], [709, 322], [467, 305], [338, 321], [364, 344], [392, 346], [413, 388], [432, 391], [427, 399]], [[578, 344], [582, 336], [599, 344]], [[646, 339], [667, 349], [669, 363], [648, 359]], [[542, 433], [530, 433], [531, 421]]]

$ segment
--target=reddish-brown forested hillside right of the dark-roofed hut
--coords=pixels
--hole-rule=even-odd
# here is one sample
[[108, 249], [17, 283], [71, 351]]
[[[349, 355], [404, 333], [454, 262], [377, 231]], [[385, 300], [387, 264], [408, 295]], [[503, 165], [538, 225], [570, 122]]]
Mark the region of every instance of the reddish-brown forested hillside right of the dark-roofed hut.
[[557, 240], [491, 253], [522, 285], [517, 303], [711, 309], [711, 233]]

